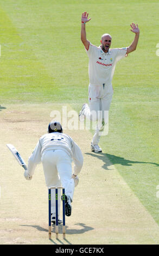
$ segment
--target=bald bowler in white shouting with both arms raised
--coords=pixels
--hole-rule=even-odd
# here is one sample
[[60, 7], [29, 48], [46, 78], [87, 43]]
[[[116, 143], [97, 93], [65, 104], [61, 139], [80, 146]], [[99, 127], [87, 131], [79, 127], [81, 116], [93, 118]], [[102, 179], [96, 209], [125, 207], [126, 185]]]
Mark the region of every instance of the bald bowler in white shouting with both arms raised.
[[[129, 47], [124, 48], [110, 48], [111, 35], [104, 34], [101, 36], [101, 45], [99, 47], [92, 45], [86, 38], [86, 22], [90, 21], [88, 14], [85, 12], [81, 17], [81, 41], [85, 46], [89, 58], [89, 78], [90, 84], [88, 87], [88, 106], [86, 103], [82, 106], [79, 113], [80, 120], [84, 118], [91, 119], [92, 121], [98, 121], [97, 130], [94, 133], [91, 150], [94, 152], [101, 152], [99, 148], [100, 135], [105, 123], [105, 112], [109, 111], [110, 104], [113, 96], [112, 78], [115, 72], [117, 62], [128, 53], [136, 50], [139, 29], [138, 25], [132, 23], [130, 29], [135, 33], [135, 39]], [[94, 114], [95, 113], [95, 114]]]

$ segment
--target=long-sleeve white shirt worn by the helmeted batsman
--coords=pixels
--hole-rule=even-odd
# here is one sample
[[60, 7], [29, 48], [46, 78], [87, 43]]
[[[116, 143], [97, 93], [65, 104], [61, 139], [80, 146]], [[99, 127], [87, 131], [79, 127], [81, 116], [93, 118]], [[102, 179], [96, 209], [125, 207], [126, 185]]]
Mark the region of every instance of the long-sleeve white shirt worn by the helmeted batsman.
[[28, 174], [33, 175], [37, 164], [46, 150], [64, 150], [74, 161], [74, 175], [78, 175], [83, 164], [83, 156], [78, 145], [65, 133], [52, 132], [43, 135], [28, 160]]

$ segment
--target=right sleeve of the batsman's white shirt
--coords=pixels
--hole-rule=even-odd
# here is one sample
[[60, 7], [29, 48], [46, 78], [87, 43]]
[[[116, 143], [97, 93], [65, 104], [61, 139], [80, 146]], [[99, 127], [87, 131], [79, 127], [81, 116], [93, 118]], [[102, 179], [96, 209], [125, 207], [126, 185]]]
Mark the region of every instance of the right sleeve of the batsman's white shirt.
[[73, 153], [73, 161], [74, 161], [74, 175], [78, 175], [82, 168], [84, 159], [83, 159], [80, 148], [73, 140], [72, 140], [72, 153]]

